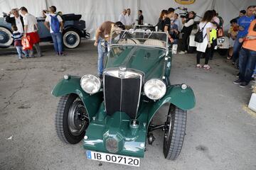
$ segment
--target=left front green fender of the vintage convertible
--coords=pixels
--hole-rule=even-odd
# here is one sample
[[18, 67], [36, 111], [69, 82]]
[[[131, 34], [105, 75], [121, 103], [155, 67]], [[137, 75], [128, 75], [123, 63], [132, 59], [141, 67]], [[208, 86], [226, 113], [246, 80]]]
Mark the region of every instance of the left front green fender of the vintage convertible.
[[55, 97], [65, 96], [67, 94], [78, 94], [91, 120], [100, 108], [100, 103], [103, 101], [103, 92], [100, 91], [93, 95], [87, 94], [80, 86], [80, 79], [80, 77], [73, 76], [70, 76], [67, 80], [61, 79], [53, 88], [52, 94]]

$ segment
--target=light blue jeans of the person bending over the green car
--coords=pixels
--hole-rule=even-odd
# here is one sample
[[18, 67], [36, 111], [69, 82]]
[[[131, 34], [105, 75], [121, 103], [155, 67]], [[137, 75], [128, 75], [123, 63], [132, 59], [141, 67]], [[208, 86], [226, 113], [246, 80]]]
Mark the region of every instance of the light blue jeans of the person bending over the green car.
[[97, 61], [97, 72], [98, 75], [102, 75], [102, 72], [104, 70], [103, 61], [104, 57], [107, 55], [107, 49], [102, 47], [102, 43], [104, 43], [105, 40], [102, 38], [99, 38], [98, 45], [97, 45], [97, 51], [98, 51], [98, 61]]

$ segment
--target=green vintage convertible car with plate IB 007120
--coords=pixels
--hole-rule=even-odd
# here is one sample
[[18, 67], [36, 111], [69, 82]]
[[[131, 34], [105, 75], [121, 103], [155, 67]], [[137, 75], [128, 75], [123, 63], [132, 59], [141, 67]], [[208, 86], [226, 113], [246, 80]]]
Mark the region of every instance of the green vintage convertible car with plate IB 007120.
[[[172, 49], [166, 33], [113, 31], [103, 79], [92, 74], [65, 75], [54, 87], [60, 97], [55, 115], [58, 137], [68, 144], [82, 140], [87, 159], [139, 166], [152, 131], [164, 131], [164, 157], [181, 152], [187, 110], [195, 106], [193, 90], [171, 84]], [[152, 118], [169, 103], [161, 125]], [[146, 142], [148, 140], [148, 142]]]

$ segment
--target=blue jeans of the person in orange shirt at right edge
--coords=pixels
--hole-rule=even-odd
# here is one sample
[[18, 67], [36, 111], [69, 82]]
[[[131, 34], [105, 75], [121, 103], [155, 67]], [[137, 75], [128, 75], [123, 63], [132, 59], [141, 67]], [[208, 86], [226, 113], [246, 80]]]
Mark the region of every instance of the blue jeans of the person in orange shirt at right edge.
[[250, 82], [250, 79], [255, 69], [256, 51], [241, 48], [239, 55], [239, 79]]

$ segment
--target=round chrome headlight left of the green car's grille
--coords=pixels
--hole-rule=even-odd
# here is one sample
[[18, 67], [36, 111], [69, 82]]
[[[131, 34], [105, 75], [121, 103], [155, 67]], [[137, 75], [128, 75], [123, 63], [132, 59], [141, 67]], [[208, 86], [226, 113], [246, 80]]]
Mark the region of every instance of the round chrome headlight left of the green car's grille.
[[87, 94], [95, 94], [100, 91], [100, 79], [92, 74], [86, 74], [81, 78], [80, 86]]

